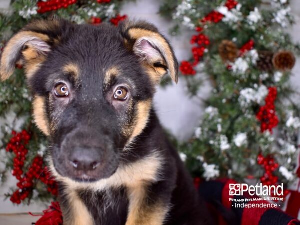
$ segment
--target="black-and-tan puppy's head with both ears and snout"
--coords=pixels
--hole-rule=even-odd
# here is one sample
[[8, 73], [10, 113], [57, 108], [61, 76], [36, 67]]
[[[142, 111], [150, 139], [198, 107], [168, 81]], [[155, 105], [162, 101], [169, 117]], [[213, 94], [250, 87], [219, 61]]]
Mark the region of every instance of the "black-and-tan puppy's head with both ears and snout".
[[53, 167], [79, 181], [114, 173], [147, 124], [155, 84], [165, 73], [177, 82], [169, 43], [145, 22], [35, 21], [4, 48], [2, 80], [16, 63], [32, 90], [35, 123], [51, 141]]

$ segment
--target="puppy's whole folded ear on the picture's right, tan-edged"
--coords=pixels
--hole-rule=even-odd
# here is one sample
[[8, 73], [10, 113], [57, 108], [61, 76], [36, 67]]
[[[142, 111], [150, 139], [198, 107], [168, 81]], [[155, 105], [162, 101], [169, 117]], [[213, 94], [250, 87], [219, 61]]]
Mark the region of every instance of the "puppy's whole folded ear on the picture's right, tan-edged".
[[178, 61], [174, 51], [155, 26], [143, 21], [124, 21], [119, 27], [126, 46], [140, 58], [155, 83], [167, 73], [178, 82]]

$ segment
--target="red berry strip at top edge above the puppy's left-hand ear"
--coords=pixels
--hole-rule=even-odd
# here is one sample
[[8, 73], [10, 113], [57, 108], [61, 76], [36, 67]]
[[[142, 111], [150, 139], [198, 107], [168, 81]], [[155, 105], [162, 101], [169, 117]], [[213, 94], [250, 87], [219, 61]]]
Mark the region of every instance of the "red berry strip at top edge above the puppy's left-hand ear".
[[48, 11], [55, 11], [60, 8], [67, 8], [69, 5], [76, 3], [77, 0], [48, 0], [48, 1], [38, 1], [37, 7], [38, 13], [45, 13]]

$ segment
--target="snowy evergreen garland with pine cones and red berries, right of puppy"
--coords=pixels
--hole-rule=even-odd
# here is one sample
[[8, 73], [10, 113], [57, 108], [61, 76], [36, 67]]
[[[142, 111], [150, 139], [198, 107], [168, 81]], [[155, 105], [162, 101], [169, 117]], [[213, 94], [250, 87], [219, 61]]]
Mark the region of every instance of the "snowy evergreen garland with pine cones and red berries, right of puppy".
[[298, 182], [299, 93], [289, 77], [299, 46], [283, 30], [289, 12], [289, 0], [164, 0], [171, 34], [182, 25], [196, 32], [180, 64], [189, 94], [199, 97], [207, 76], [213, 86], [194, 137], [179, 145], [194, 176], [284, 183], [285, 196]]

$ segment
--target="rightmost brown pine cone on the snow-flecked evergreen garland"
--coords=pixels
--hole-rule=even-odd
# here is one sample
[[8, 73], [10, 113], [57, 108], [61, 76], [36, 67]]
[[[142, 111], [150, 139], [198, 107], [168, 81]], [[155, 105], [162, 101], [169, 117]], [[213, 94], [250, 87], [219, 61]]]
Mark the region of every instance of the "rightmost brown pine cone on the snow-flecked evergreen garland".
[[279, 70], [290, 70], [294, 67], [296, 58], [290, 51], [279, 51], [273, 56], [273, 65]]

